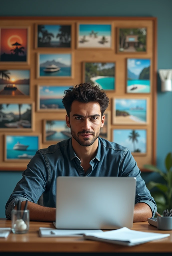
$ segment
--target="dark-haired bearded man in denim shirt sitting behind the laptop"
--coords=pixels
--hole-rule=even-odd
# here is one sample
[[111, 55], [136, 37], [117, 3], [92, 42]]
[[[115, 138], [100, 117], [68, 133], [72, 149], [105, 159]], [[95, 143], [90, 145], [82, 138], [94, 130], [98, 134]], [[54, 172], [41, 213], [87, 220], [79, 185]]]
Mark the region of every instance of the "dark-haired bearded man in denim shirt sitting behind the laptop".
[[[136, 177], [134, 221], [154, 216], [155, 201], [130, 150], [99, 138], [103, 113], [109, 105], [106, 93], [98, 86], [81, 83], [66, 90], [62, 102], [72, 137], [36, 152], [6, 203], [6, 217], [11, 218], [11, 211], [20, 199], [22, 209], [24, 201], [29, 201], [30, 220], [55, 221], [58, 176]], [[40, 206], [36, 202], [43, 192], [44, 206]]]

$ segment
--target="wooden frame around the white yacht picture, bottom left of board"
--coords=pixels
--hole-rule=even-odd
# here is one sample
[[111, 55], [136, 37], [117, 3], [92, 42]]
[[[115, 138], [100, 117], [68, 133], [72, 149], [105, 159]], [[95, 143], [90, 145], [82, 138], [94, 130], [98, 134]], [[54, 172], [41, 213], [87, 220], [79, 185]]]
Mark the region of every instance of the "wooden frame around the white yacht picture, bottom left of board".
[[23, 163], [28, 163], [30, 161], [30, 159], [31, 159], [31, 158], [28, 158], [28, 159], [13, 159], [13, 158], [12, 159], [7, 159], [6, 136], [30, 136], [30, 137], [37, 136], [38, 137], [38, 150], [40, 149], [41, 135], [39, 133], [23, 133], [22, 135], [19, 135], [17, 133], [5, 133], [4, 134], [4, 161], [5, 162], [18, 162], [18, 163], [23, 162]]

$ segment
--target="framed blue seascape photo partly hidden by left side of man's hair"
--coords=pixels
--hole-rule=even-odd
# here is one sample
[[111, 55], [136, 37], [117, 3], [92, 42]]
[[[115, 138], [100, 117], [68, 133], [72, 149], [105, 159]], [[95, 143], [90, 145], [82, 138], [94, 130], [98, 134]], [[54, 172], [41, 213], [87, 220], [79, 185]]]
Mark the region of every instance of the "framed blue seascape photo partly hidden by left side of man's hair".
[[37, 111], [39, 112], [65, 112], [62, 99], [64, 91], [72, 86], [37, 86]]

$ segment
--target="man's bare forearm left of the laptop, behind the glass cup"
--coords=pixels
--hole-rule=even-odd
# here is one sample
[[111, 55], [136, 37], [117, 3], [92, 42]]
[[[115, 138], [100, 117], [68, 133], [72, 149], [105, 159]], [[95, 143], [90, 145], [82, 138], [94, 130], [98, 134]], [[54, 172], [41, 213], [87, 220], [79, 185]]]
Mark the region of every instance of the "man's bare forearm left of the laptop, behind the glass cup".
[[[24, 210], [25, 202], [21, 203], [21, 210]], [[14, 209], [17, 208], [17, 205]], [[30, 220], [37, 221], [55, 221], [56, 220], [56, 208], [45, 207], [37, 205], [28, 201], [27, 209], [29, 210]]]

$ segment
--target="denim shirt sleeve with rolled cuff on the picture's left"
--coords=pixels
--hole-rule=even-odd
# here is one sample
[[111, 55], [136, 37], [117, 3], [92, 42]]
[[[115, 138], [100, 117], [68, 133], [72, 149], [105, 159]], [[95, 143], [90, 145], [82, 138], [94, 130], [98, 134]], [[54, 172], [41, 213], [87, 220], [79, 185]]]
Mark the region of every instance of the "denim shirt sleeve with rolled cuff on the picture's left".
[[37, 151], [5, 205], [6, 218], [11, 219], [11, 212], [18, 200], [36, 203], [45, 191], [47, 179], [48, 168], [45, 158], [40, 151]]

